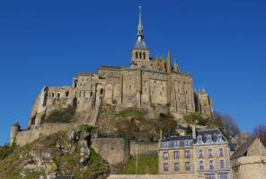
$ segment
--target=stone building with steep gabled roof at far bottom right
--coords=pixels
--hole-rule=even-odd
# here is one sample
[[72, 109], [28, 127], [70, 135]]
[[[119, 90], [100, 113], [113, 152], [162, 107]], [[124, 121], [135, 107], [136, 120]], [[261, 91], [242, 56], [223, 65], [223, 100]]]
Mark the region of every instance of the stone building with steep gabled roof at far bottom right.
[[250, 139], [231, 157], [233, 179], [266, 178], [266, 148], [260, 139]]

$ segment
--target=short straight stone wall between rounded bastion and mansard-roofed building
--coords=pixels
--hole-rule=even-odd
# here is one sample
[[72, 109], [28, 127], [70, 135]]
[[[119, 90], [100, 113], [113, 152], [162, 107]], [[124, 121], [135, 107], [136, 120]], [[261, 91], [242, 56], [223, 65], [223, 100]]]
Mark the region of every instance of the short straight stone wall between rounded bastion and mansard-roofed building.
[[158, 142], [138, 142], [130, 140], [130, 155], [158, 154]]

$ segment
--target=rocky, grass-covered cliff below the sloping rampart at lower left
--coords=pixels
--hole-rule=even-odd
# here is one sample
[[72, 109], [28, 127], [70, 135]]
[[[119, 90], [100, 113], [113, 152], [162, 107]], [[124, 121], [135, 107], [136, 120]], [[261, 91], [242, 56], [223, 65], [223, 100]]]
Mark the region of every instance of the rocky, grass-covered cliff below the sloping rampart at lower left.
[[53, 179], [75, 175], [77, 179], [87, 179], [109, 174], [108, 164], [91, 148], [85, 125], [41, 137], [23, 147], [9, 147], [8, 151], [0, 158], [0, 178]]

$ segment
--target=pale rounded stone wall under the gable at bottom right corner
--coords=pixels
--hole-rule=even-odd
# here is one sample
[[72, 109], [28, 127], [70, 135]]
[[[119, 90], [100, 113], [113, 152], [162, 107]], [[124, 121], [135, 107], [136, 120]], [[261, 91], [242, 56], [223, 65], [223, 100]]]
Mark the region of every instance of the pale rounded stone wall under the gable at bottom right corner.
[[233, 179], [265, 178], [266, 156], [240, 157], [233, 167]]

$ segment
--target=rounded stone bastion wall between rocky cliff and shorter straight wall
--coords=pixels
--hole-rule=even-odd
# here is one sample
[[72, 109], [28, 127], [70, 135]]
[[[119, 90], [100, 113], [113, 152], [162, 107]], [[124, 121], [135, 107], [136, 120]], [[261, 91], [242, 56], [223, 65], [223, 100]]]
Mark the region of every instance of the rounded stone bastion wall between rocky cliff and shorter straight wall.
[[129, 140], [122, 138], [92, 139], [92, 147], [111, 166], [126, 164], [129, 161]]

